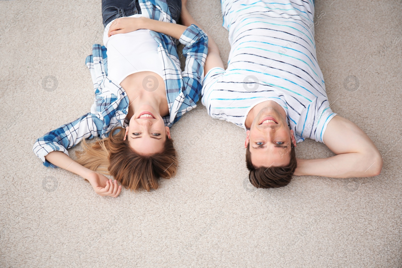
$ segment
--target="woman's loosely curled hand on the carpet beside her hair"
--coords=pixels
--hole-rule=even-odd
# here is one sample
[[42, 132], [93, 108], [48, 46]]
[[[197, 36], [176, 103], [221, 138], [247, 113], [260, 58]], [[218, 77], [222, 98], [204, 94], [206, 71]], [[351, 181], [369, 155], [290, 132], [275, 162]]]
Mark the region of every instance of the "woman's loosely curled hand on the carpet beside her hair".
[[94, 191], [100, 196], [112, 196], [117, 197], [121, 192], [121, 185], [117, 184], [117, 180], [113, 182], [113, 180], [109, 180], [106, 176], [98, 173], [91, 172], [85, 177]]

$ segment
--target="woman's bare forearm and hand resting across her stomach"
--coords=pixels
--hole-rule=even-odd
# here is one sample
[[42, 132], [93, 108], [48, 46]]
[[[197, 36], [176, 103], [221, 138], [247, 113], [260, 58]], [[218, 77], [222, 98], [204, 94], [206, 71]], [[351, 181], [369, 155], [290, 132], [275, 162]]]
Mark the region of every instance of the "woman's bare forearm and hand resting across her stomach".
[[108, 36], [111, 37], [118, 33], [129, 33], [137, 31], [138, 29], [149, 29], [180, 39], [187, 27], [176, 23], [167, 23], [145, 17], [121, 17], [113, 21], [109, 28]]

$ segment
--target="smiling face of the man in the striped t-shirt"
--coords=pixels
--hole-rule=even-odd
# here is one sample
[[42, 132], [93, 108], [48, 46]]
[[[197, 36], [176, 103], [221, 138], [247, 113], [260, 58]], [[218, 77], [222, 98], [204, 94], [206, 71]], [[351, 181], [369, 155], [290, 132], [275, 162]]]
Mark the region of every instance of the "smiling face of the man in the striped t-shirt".
[[265, 107], [254, 118], [247, 131], [245, 147], [250, 143], [254, 166], [286, 166], [290, 161], [291, 143], [296, 144], [286, 117], [274, 107]]

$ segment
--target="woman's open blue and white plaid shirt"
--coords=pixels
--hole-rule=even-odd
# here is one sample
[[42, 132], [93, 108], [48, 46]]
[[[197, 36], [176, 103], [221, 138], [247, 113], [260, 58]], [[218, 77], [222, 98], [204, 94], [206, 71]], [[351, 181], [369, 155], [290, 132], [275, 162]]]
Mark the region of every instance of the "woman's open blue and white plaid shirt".
[[[139, 0], [139, 4], [142, 13], [148, 18], [172, 22], [166, 2]], [[179, 41], [185, 45], [183, 55], [186, 56], [186, 66], [184, 72], [181, 72], [176, 39], [154, 31], [150, 33], [159, 45], [158, 53], [164, 66], [163, 79], [170, 113], [163, 119], [165, 125], [171, 127], [184, 113], [197, 106], [196, 102], [201, 96], [208, 38], [195, 25], [184, 31]], [[108, 137], [113, 128], [127, 126], [129, 100], [123, 88], [107, 77], [106, 48], [93, 45], [92, 55], [86, 57], [86, 65], [94, 83], [94, 104], [90, 113], [36, 140], [33, 151], [47, 167], [57, 168], [45, 160], [45, 155], [51, 151], [62, 151], [68, 155], [67, 149], [82, 139]]]

